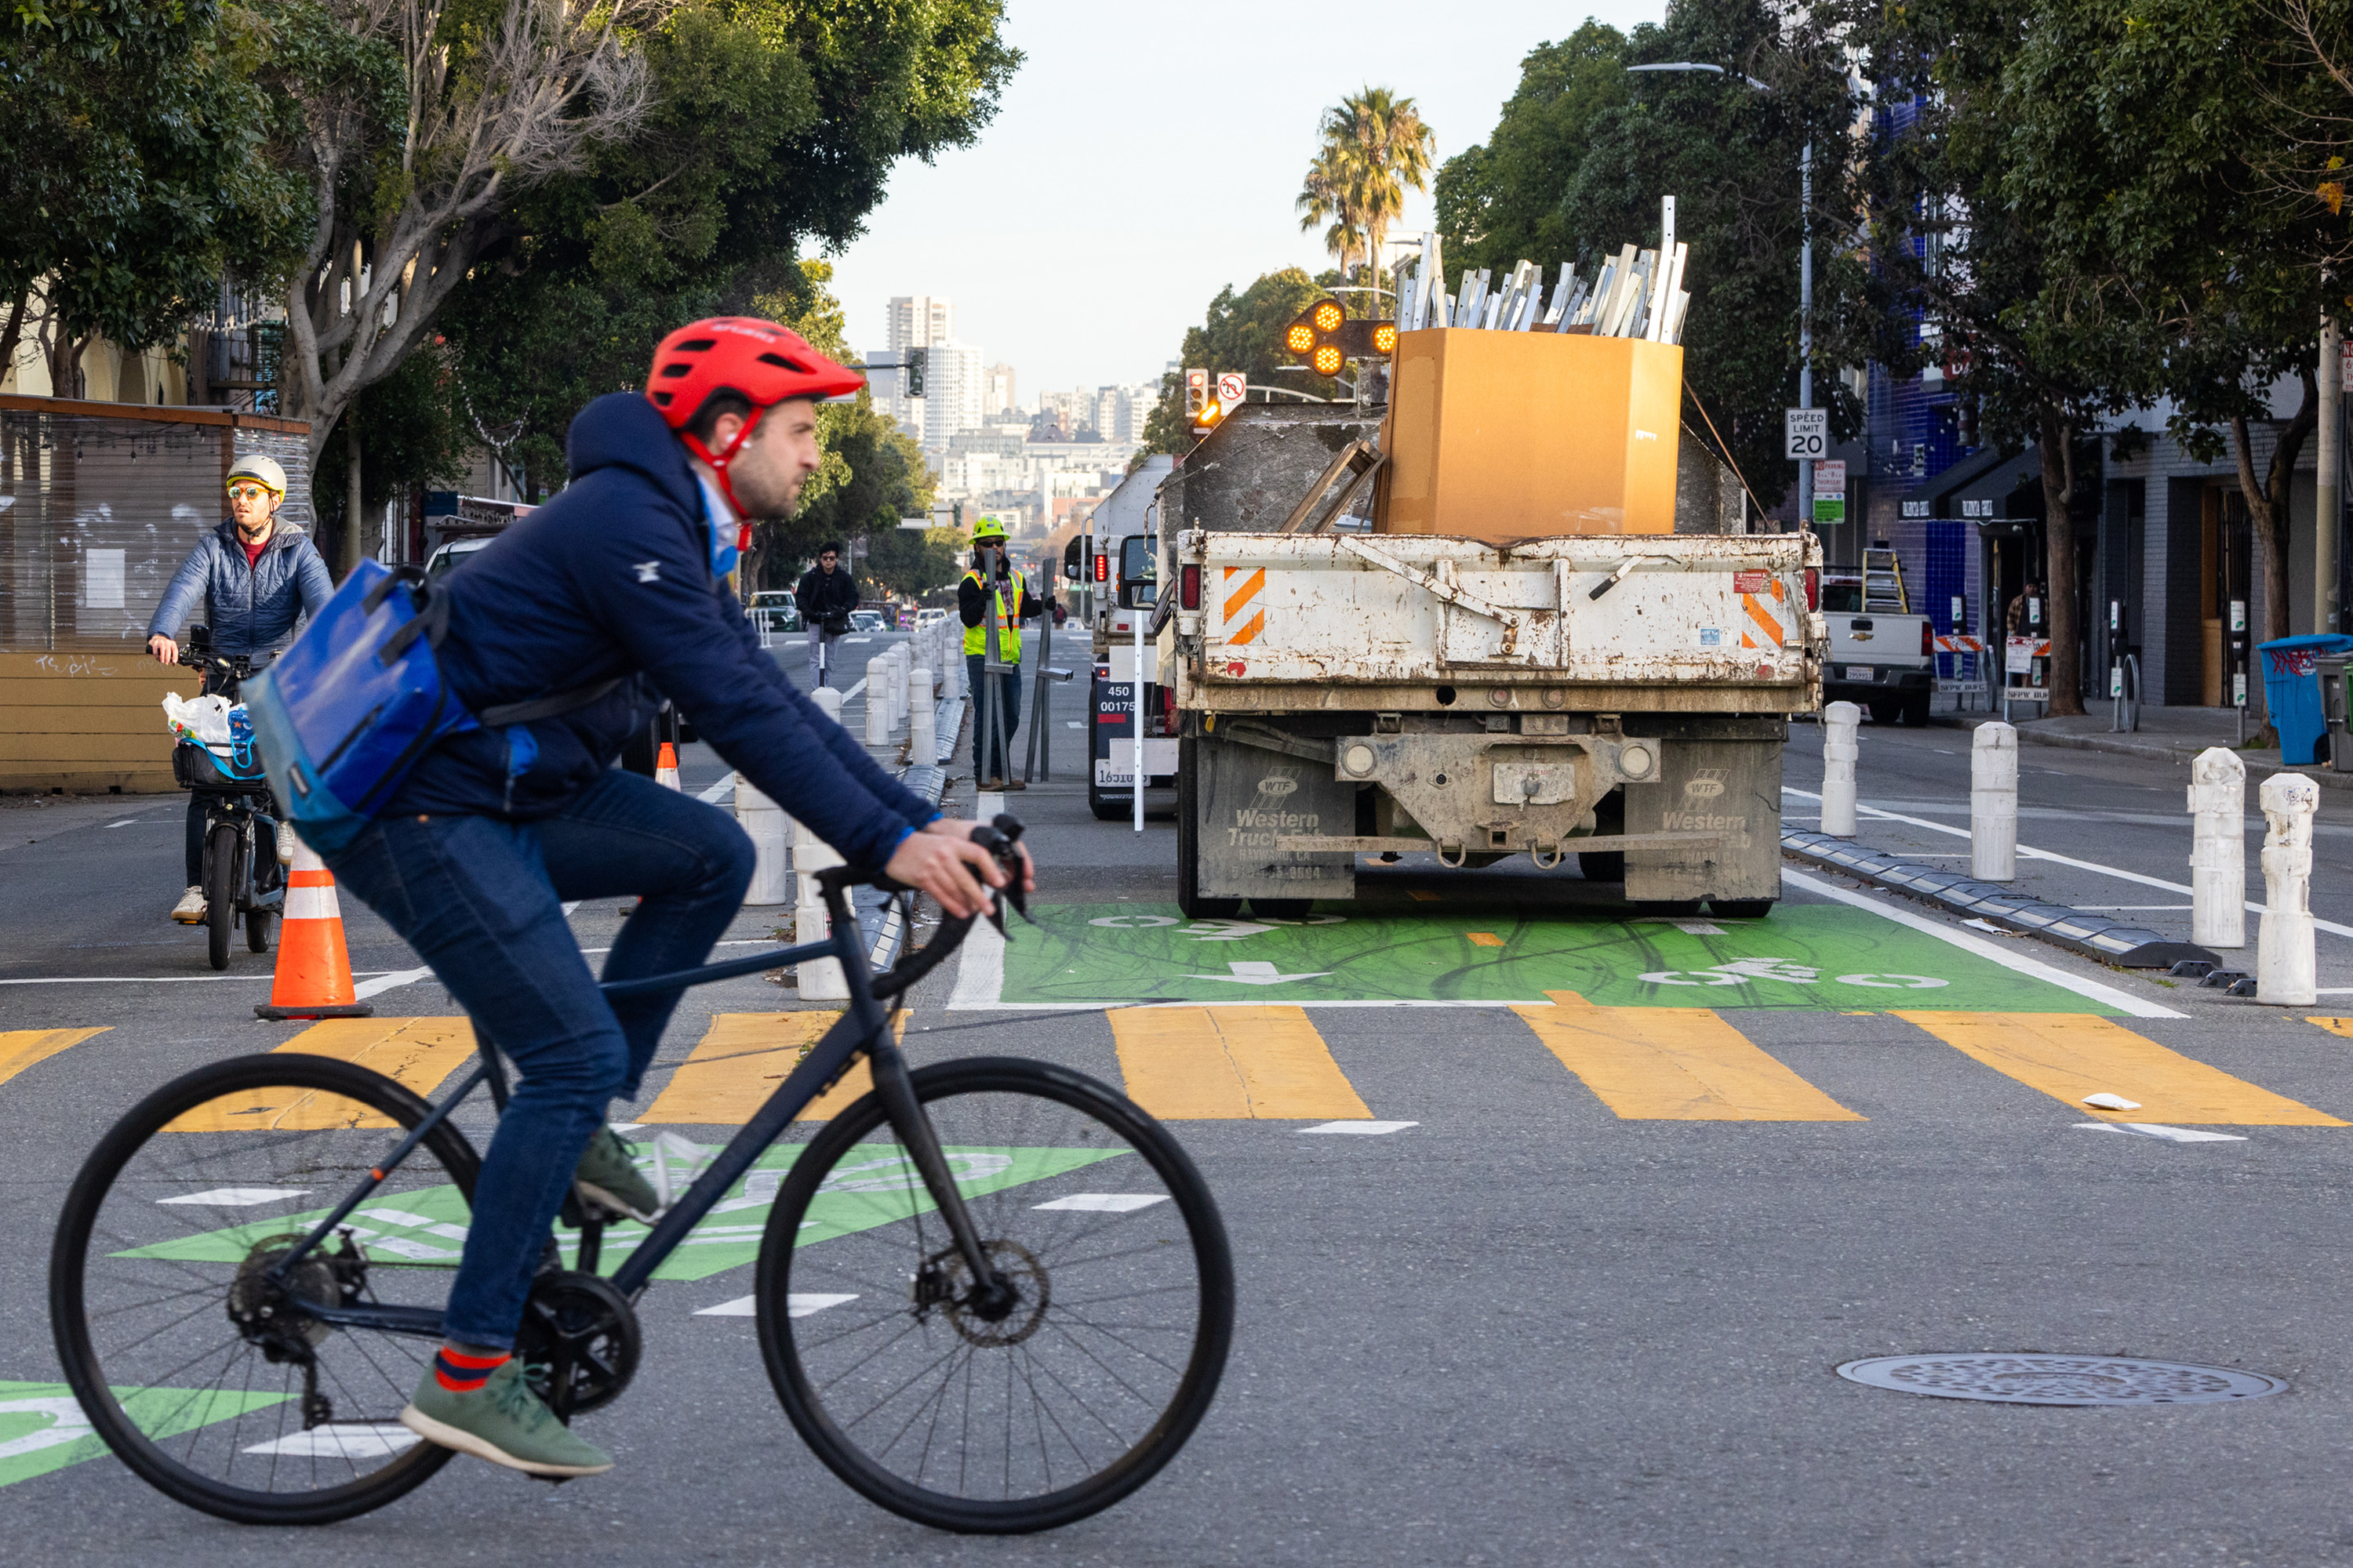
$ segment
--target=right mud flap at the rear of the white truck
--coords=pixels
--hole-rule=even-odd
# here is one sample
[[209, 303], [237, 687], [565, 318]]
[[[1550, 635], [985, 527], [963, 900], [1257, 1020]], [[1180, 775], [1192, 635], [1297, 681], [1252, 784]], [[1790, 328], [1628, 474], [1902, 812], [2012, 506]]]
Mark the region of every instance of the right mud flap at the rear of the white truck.
[[1666, 741], [1659, 783], [1626, 785], [1626, 832], [1713, 832], [1692, 849], [1628, 849], [1626, 898], [1781, 896], [1781, 743]]

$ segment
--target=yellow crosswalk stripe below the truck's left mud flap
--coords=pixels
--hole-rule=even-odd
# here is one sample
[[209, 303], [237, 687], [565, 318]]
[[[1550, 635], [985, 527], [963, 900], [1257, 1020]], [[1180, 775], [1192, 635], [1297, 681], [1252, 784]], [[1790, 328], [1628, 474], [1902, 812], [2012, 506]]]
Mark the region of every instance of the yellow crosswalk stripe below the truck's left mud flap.
[[1111, 1011], [1127, 1098], [1162, 1121], [1369, 1121], [1297, 1006]]

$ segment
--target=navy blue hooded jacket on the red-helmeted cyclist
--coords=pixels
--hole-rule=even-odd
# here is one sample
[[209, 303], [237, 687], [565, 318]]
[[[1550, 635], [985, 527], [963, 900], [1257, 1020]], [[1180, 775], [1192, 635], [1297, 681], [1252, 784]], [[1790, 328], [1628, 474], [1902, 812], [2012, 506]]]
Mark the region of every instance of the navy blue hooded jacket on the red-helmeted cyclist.
[[[729, 764], [852, 865], [882, 865], [936, 811], [802, 696], [711, 571], [704, 494], [638, 393], [572, 421], [572, 487], [440, 581], [435, 661], [468, 710], [645, 675]], [[649, 717], [645, 682], [588, 708], [442, 741], [381, 816], [553, 816]]]

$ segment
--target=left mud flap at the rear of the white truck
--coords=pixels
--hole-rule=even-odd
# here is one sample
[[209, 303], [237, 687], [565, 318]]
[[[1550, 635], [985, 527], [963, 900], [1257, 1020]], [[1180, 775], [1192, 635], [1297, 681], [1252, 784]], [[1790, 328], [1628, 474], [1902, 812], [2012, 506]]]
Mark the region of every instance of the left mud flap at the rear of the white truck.
[[[1355, 790], [1332, 764], [1202, 736], [1198, 771], [1198, 891], [1207, 898], [1355, 898], [1355, 856], [1278, 851], [1275, 839], [1355, 835]], [[1779, 783], [1779, 778], [1774, 780]], [[1769, 835], [1767, 835], [1769, 837]], [[1774, 851], [1779, 865], [1779, 849]]]

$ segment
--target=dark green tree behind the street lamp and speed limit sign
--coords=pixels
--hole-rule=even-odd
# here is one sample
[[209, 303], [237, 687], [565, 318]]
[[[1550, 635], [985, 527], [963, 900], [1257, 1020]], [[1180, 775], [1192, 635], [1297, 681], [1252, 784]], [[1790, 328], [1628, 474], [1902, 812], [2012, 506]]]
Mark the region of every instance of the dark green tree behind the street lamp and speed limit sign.
[[[1765, 505], [1793, 477], [1781, 409], [1798, 402], [1800, 247], [1814, 233], [1814, 402], [1838, 437], [1861, 407], [1831, 376], [1880, 348], [1882, 299], [1854, 256], [1857, 101], [1826, 21], [1762, 0], [1682, 0], [1661, 26], [1635, 28], [1624, 63], [1708, 63], [1713, 71], [1612, 82], [1605, 28], [1539, 49], [1522, 92], [1489, 136], [1468, 183], [1480, 266], [1527, 259], [1548, 273], [1577, 261], [1593, 277], [1621, 244], [1659, 242], [1659, 197], [1675, 197], [1675, 240], [1689, 244], [1682, 378], [1729, 461]], [[1534, 82], [1529, 82], [1534, 78]], [[1765, 85], [1760, 92], [1748, 78]], [[1579, 153], [1581, 143], [1581, 153]], [[1805, 148], [1812, 209], [1805, 205]], [[1527, 244], [1529, 249], [1520, 249]], [[1537, 247], [1558, 249], [1537, 249]], [[1447, 256], [1449, 270], [1461, 259]]]

